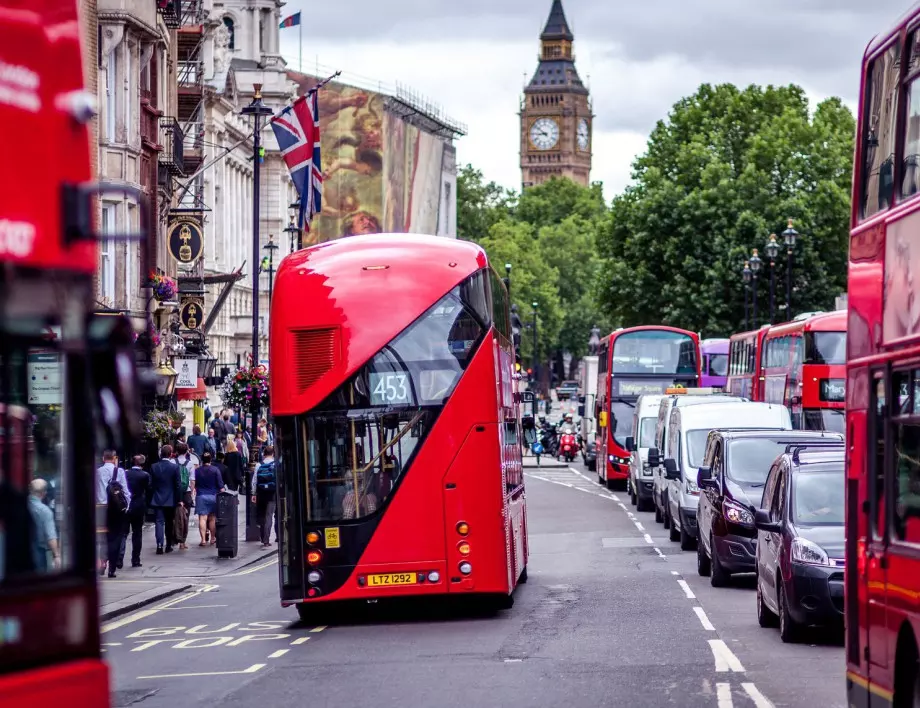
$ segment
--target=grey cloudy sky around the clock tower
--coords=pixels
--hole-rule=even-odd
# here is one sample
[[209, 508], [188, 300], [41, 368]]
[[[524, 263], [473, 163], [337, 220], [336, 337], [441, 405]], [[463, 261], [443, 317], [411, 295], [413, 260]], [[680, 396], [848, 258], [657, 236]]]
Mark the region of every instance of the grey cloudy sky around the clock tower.
[[[520, 186], [521, 90], [537, 65], [552, 0], [288, 0], [303, 10], [307, 71], [404, 84], [468, 126], [458, 159]], [[591, 177], [612, 197], [655, 121], [703, 82], [798, 83], [855, 108], [872, 36], [911, 0], [563, 0], [576, 66], [594, 99]], [[641, 8], [637, 9], [637, 8]], [[298, 31], [281, 32], [298, 62]]]

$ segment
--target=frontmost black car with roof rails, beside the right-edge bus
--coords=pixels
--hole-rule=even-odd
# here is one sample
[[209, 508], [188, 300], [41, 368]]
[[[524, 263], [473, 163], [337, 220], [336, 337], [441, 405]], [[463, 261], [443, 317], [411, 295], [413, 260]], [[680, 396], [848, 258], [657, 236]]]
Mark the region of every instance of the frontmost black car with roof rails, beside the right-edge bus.
[[773, 463], [757, 527], [757, 619], [793, 642], [843, 624], [844, 451], [795, 448]]

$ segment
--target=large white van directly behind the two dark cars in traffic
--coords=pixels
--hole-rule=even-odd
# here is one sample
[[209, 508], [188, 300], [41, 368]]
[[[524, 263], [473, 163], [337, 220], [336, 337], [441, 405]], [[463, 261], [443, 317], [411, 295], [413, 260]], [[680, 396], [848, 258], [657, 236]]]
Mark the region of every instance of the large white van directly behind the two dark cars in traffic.
[[[667, 456], [662, 459], [667, 480], [667, 507], [671, 540], [684, 551], [696, 543], [696, 509], [700, 490], [696, 473], [713, 430], [792, 430], [786, 406], [735, 401], [710, 406], [676, 407], [668, 425]], [[770, 460], [764, 460], [765, 465]]]

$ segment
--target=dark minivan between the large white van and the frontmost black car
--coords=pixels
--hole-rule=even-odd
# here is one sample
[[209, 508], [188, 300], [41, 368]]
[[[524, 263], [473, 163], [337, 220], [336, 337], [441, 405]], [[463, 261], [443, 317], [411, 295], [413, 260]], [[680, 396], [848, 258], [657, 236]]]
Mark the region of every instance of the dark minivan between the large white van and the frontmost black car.
[[696, 568], [713, 587], [755, 571], [754, 513], [773, 461], [792, 445], [842, 446], [843, 436], [812, 430], [714, 430], [697, 472]]

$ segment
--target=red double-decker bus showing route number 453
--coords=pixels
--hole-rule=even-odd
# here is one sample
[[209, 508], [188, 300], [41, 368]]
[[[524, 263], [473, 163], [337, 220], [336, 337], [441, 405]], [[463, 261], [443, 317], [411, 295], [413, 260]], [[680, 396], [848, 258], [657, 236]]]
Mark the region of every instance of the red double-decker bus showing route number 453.
[[483, 250], [374, 235], [294, 253], [271, 337], [282, 605], [510, 605], [527, 578], [520, 406], [508, 295]]

